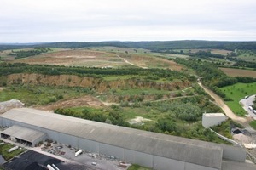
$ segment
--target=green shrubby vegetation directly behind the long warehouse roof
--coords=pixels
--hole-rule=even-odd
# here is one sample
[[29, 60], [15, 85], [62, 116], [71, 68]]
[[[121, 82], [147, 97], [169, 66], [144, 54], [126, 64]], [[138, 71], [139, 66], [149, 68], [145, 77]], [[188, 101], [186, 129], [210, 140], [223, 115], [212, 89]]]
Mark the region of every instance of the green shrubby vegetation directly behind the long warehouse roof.
[[[73, 107], [56, 109], [55, 113], [76, 116], [96, 122], [133, 127], [156, 133], [166, 133], [190, 139], [224, 143], [201, 125], [203, 112], [220, 112], [216, 105], [202, 96], [167, 100], [161, 102], [137, 102], [127, 105], [112, 105], [106, 108]], [[135, 117], [150, 119], [143, 123], [128, 123]]]

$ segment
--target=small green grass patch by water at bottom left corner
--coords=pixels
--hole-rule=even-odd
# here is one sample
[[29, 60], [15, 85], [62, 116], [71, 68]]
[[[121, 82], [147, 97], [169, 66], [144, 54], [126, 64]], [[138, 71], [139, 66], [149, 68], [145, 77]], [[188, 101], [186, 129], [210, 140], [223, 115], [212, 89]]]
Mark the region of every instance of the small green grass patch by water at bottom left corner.
[[13, 144], [3, 144], [0, 145], [0, 155], [3, 156], [3, 158], [8, 161], [9, 159], [20, 155], [20, 153], [24, 152], [26, 149], [24, 148], [19, 148], [18, 150], [14, 150], [12, 152], [8, 152], [9, 149], [15, 147]]

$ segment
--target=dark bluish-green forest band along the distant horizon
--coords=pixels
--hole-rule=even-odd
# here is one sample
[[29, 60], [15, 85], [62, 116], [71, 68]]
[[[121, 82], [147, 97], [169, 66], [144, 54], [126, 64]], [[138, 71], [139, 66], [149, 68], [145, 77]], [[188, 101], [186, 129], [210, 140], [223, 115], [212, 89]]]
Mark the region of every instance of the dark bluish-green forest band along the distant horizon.
[[2, 44], [0, 50], [17, 48], [90, 48], [113, 46], [120, 48], [145, 48], [154, 52], [164, 52], [172, 49], [218, 48], [234, 51], [256, 50], [256, 42], [218, 42], [218, 41], [166, 41], [166, 42], [52, 42], [41, 44]]

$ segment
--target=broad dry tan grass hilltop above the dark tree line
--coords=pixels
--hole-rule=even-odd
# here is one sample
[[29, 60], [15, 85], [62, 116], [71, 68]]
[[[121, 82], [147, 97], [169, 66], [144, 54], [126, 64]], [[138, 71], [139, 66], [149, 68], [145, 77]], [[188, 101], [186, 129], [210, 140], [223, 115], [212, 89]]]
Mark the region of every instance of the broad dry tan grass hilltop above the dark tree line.
[[22, 62], [31, 65], [67, 65], [86, 67], [122, 67], [124, 65], [137, 65], [142, 68], [169, 68], [175, 71], [180, 71], [182, 69], [182, 66], [177, 65], [174, 61], [160, 59], [150, 54], [113, 54], [88, 49], [56, 51], [26, 59], [17, 59], [13, 62]]

